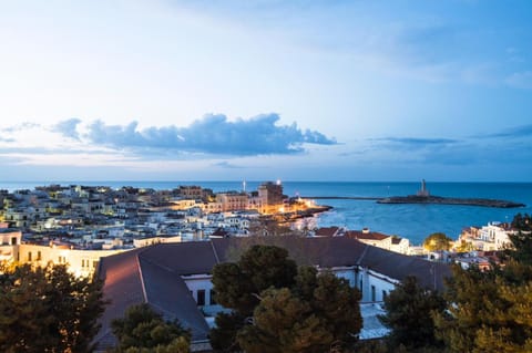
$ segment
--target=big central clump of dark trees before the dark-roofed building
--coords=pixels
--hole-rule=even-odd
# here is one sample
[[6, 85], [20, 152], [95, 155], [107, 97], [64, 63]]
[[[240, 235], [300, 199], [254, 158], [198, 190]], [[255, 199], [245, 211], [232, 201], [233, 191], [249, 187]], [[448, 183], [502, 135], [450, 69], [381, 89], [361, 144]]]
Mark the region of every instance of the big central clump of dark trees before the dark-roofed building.
[[217, 301], [233, 309], [212, 330], [218, 351], [313, 353], [357, 341], [359, 291], [332, 273], [297, 269], [285, 249], [254, 246], [237, 263], [216, 266], [213, 283]]

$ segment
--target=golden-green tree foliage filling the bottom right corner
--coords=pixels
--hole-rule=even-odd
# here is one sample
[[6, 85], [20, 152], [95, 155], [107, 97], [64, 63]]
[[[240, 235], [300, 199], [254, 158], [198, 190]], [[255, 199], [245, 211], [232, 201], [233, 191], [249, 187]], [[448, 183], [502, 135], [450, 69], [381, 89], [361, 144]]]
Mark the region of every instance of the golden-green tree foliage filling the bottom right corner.
[[456, 266], [447, 311], [434, 318], [450, 352], [530, 352], [531, 271], [514, 260], [487, 272]]

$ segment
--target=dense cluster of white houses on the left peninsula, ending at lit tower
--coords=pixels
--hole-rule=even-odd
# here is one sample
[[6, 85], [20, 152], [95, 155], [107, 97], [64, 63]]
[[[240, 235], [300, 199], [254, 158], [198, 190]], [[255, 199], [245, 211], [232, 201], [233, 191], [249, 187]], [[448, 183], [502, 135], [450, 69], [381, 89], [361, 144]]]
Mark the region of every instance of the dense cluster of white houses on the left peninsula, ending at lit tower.
[[280, 183], [252, 193], [214, 194], [200, 186], [172, 190], [104, 186], [0, 190], [0, 260], [69, 263], [90, 276], [100, 258], [161, 242], [246, 236], [265, 215], [298, 211]]

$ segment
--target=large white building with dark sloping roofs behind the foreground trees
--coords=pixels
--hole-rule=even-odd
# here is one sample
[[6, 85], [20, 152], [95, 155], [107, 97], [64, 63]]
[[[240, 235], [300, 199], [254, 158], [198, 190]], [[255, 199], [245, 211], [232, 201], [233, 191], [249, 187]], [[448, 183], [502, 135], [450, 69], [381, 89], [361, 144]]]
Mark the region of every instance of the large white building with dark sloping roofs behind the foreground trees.
[[[387, 251], [347, 237], [221, 238], [135, 249], [102, 258], [100, 262], [104, 298], [111, 303], [95, 338], [99, 351], [115, 344], [111, 321], [122, 318], [129, 307], [143, 302], [166, 319], [177, 319], [191, 329], [193, 351], [208, 349], [209, 325], [215, 313], [222, 310], [213, 300], [213, 267], [229, 261], [235, 249], [244, 250], [255, 243], [284, 247], [299, 263], [332, 271], [361, 291], [362, 305], [374, 308], [407, 276], [416, 276], [421, 285], [439, 290], [443, 288], [443, 278], [450, 276], [447, 264]], [[361, 336], [375, 334], [362, 330]]]

